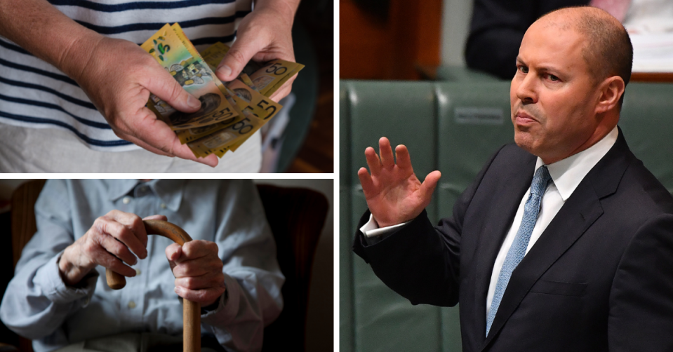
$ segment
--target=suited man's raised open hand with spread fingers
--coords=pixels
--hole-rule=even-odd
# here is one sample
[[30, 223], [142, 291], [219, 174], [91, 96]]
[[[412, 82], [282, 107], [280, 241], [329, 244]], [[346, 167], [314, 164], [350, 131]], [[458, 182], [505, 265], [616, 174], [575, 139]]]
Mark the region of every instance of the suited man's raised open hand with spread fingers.
[[380, 159], [372, 147], [364, 151], [371, 175], [366, 168], [357, 172], [369, 210], [380, 227], [418, 217], [430, 203], [441, 173], [430, 172], [421, 183], [413, 173], [411, 157], [404, 145], [395, 148], [397, 163], [386, 137], [381, 137], [378, 145]]

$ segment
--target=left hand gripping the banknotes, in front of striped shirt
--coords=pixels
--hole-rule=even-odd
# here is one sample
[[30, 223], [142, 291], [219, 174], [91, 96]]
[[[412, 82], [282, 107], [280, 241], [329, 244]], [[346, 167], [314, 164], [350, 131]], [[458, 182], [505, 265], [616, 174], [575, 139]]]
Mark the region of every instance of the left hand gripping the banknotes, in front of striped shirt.
[[145, 107], [150, 92], [185, 113], [198, 111], [201, 102], [135, 43], [100, 36], [74, 78], [120, 138], [156, 154], [218, 164], [215, 156], [196, 158], [173, 130]]

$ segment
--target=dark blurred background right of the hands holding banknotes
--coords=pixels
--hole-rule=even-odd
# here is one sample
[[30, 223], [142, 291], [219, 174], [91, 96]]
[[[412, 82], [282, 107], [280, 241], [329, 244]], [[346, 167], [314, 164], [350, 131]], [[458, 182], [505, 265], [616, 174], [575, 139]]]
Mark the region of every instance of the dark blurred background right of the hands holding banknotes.
[[293, 97], [280, 102], [290, 109], [262, 130], [261, 172], [334, 172], [333, 18], [332, 1], [299, 5], [292, 39], [296, 62], [305, 68], [293, 83]]

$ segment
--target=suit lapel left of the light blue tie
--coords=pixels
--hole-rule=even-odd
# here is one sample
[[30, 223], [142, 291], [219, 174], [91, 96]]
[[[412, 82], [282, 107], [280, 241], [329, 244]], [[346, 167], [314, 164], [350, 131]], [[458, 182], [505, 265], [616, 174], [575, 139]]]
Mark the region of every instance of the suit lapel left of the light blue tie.
[[[479, 341], [483, 341], [486, 337], [486, 296], [488, 295], [488, 286], [491, 283], [491, 274], [493, 273], [493, 263], [495, 257], [498, 256], [502, 241], [505, 241], [507, 230], [512, 225], [514, 215], [517, 214], [517, 208], [521, 203], [521, 198], [524, 197], [526, 190], [531, 186], [533, 180], [533, 171], [535, 170], [535, 161], [537, 158], [531, 156], [521, 165], [512, 166], [508, 170], [509, 180], [517, 180], [517, 182], [510, 182], [495, 193], [498, 198], [490, 205], [492, 212], [489, 213], [484, 222], [483, 231], [479, 236], [479, 255], [477, 255], [477, 280], [474, 281], [477, 292], [477, 327], [479, 327]], [[530, 175], [530, 177], [521, 177], [521, 175]], [[500, 196], [502, 194], [502, 196]], [[508, 211], [502, 211], [508, 210]]]

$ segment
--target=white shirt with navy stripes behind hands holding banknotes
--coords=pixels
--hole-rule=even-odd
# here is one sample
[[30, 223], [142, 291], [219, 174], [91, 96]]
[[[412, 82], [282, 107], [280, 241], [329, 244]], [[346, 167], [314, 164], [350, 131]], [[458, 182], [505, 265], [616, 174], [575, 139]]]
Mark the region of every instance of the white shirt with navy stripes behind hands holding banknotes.
[[[49, 0], [80, 25], [115, 39], [146, 41], [166, 23], [180, 23], [197, 50], [231, 43], [252, 0]], [[102, 82], [105, 83], [105, 82]], [[100, 151], [138, 147], [114, 135], [81, 88], [59, 69], [0, 36], [0, 123], [64, 128]]]

